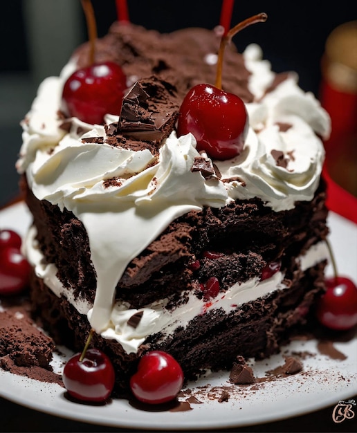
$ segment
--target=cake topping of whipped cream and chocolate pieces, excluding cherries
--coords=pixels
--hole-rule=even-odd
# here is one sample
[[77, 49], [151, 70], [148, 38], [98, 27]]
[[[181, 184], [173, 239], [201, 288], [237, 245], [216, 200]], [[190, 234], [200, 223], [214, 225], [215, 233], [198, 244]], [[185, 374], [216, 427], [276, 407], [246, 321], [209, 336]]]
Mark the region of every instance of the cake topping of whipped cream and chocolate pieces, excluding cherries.
[[[140, 32], [144, 30], [136, 33], [131, 26], [113, 26], [108, 37], [98, 43], [98, 59], [110, 57], [120, 62], [129, 77], [128, 86], [134, 84], [125, 99], [123, 117], [119, 120], [108, 113], [106, 125], [63, 118], [64, 82], [83, 63], [84, 46], [60, 77], [49, 77], [39, 86], [22, 122], [23, 145], [17, 161], [19, 173], [26, 174], [37, 199], [72, 211], [84, 224], [97, 276], [89, 320], [98, 333], [118, 340], [125, 333], [120, 322], [127, 311], [114, 310], [113, 301], [116, 285], [131, 259], [174, 219], [191, 210], [221, 208], [236, 199], [254, 197], [275, 211], [289, 210], [295, 201], [310, 201], [324, 159], [319, 136], [329, 134], [327, 113], [313, 95], [299, 89], [295, 75], [277, 82], [271, 65], [262, 60], [260, 48], [252, 45], [243, 56], [229, 51], [226, 59], [228, 77], [236, 68], [231, 81], [238, 83], [236, 93], [246, 101], [249, 114], [244, 149], [232, 160], [210, 161], [196, 150], [192, 134], [177, 138], [174, 120], [187, 88], [196, 84], [194, 80], [206, 81], [215, 66], [212, 55], [217, 37], [208, 30], [181, 30], [165, 35], [159, 44], [157, 33], [144, 32], [143, 38]], [[187, 41], [198, 35], [190, 46]], [[150, 38], [154, 39], [152, 50], [145, 51]], [[178, 41], [194, 58], [192, 68], [182, 74], [182, 64], [177, 64], [180, 56], [174, 51]], [[146, 88], [134, 83], [139, 77], [130, 73], [131, 68], [147, 77], [143, 81]], [[197, 73], [197, 68], [203, 72]], [[152, 77], [153, 72], [159, 79]], [[150, 88], [148, 83], [156, 89], [156, 102], [154, 107], [146, 102], [147, 122], [139, 131], [135, 103], [145, 100], [143, 91]], [[223, 86], [231, 91], [230, 80]], [[163, 101], [168, 107], [167, 122], [156, 110], [161, 107], [162, 111]], [[140, 122], [143, 124], [143, 118]], [[214, 174], [195, 168], [202, 158], [209, 167], [217, 167]]]

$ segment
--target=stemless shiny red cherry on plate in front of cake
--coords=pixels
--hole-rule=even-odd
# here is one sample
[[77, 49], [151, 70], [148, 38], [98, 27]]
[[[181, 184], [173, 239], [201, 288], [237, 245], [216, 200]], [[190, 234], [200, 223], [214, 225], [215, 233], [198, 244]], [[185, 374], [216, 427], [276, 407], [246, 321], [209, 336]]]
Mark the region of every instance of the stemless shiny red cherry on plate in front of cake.
[[138, 371], [130, 378], [134, 396], [143, 403], [159, 404], [176, 398], [183, 385], [178, 362], [163, 351], [151, 351], [140, 359]]

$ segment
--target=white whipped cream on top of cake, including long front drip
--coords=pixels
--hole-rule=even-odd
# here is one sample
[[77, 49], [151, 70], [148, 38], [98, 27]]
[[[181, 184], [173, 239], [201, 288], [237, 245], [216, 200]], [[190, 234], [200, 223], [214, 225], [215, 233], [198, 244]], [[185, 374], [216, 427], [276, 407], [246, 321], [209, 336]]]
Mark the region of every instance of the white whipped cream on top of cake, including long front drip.
[[[75, 68], [74, 59], [60, 77], [49, 77], [39, 86], [22, 122], [17, 170], [26, 173], [37, 199], [71, 210], [86, 228], [97, 275], [95, 302], [88, 315], [98, 333], [110, 338], [122, 335], [118, 317], [127, 317], [127, 311], [114, 306], [116, 284], [131, 259], [178, 216], [255, 196], [275, 211], [313, 198], [324, 159], [316, 134], [329, 135], [327, 113], [313, 95], [299, 89], [295, 76], [266, 93], [275, 75], [262, 61], [258, 46], [249, 46], [244, 58], [255, 95], [255, 102], [246, 104], [250, 129], [237, 158], [214, 161], [221, 178], [191, 171], [199, 156], [192, 134], [177, 138], [173, 131], [154, 157], [148, 150], [107, 145], [102, 125], [73, 118], [70, 131], [61, 129], [62, 88]], [[117, 119], [110, 113], [106, 118]], [[102, 142], [85, 140], [93, 137]], [[111, 178], [116, 183], [104, 183]]]

